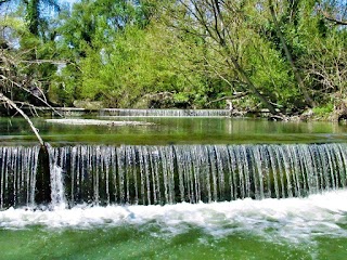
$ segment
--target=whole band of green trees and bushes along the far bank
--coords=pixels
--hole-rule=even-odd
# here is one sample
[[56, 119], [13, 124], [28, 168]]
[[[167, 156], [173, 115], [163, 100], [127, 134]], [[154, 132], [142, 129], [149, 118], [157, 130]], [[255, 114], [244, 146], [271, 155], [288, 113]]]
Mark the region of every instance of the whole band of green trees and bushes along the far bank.
[[[234, 102], [242, 108], [267, 102], [283, 110], [305, 108], [270, 1], [214, 1], [221, 16], [210, 1], [185, 2], [202, 8], [201, 21], [182, 1], [81, 0], [52, 18], [44, 12], [56, 1], [28, 0], [0, 26], [7, 40], [18, 42], [23, 60], [48, 61], [20, 70], [27, 82], [39, 79], [57, 105], [90, 100], [112, 107], [224, 107], [236, 92], [246, 94]], [[329, 22], [317, 1], [272, 2], [317, 113], [330, 112], [331, 96], [346, 98], [346, 26]], [[336, 1], [320, 8], [344, 17]]]

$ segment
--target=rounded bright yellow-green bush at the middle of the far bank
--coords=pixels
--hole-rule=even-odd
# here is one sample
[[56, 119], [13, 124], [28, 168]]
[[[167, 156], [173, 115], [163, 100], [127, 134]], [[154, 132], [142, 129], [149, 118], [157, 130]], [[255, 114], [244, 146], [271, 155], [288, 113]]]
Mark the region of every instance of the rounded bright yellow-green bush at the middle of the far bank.
[[87, 49], [80, 63], [80, 98], [102, 100], [108, 106], [129, 107], [146, 93], [190, 92], [196, 78], [180, 73], [180, 66], [172, 66], [176, 51], [168, 49], [164, 52], [164, 42], [155, 40], [157, 31], [152, 29], [144, 31], [129, 26], [115, 36], [113, 44]]

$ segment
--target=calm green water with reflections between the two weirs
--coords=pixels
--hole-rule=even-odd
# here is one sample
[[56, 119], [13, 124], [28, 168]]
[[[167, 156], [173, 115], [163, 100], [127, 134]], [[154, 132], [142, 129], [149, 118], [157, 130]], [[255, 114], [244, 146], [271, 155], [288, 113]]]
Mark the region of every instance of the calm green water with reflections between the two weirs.
[[[239, 144], [345, 142], [346, 126], [332, 122], [277, 122], [265, 119], [100, 117], [102, 120], [144, 121], [150, 126], [70, 126], [35, 118], [43, 140], [51, 143], [108, 144]], [[21, 118], [0, 120], [2, 142], [36, 142]]]

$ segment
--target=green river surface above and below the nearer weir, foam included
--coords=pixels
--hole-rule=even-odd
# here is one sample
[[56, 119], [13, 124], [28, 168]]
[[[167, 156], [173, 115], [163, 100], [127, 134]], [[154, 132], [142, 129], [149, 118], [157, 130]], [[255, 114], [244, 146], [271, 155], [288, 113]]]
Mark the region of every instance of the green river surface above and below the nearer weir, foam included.
[[[347, 127], [230, 118], [101, 118], [152, 126], [66, 126], [35, 119], [52, 146], [346, 143]], [[2, 145], [33, 145], [1, 119]], [[347, 174], [347, 172], [346, 172]], [[0, 211], [0, 259], [347, 259], [347, 191], [162, 206], [57, 205]]]

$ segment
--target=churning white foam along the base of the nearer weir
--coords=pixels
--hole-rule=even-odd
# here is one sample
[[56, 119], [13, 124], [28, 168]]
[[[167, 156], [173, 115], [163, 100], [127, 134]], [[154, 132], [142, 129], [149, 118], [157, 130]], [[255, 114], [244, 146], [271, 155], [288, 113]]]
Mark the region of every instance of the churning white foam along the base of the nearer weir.
[[[0, 227], [92, 229], [94, 226], [156, 223], [164, 235], [176, 235], [190, 226], [217, 238], [236, 232], [308, 239], [316, 235], [347, 236], [347, 191], [326, 192], [308, 198], [240, 199], [235, 202], [165, 206], [76, 206], [72, 209], [0, 211]], [[160, 234], [156, 234], [160, 235]]]

